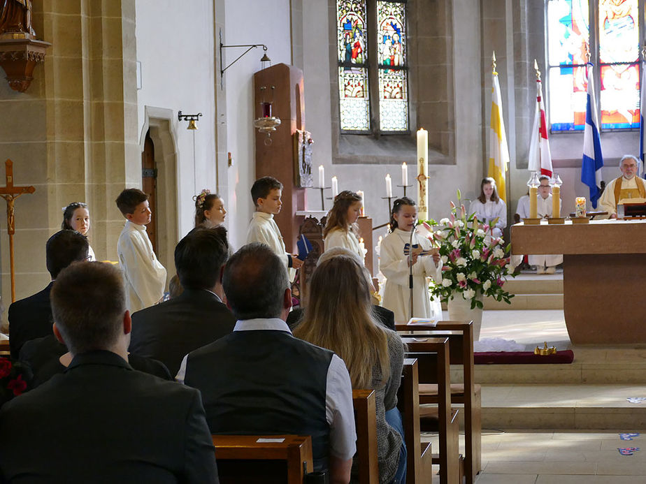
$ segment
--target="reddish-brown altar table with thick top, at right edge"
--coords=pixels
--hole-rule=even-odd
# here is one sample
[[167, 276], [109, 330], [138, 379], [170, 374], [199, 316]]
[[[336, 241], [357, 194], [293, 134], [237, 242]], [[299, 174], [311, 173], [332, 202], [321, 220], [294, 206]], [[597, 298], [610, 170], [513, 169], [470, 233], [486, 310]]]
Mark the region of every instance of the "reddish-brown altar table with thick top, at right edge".
[[511, 240], [515, 255], [564, 255], [564, 314], [573, 344], [646, 343], [646, 221], [517, 223]]

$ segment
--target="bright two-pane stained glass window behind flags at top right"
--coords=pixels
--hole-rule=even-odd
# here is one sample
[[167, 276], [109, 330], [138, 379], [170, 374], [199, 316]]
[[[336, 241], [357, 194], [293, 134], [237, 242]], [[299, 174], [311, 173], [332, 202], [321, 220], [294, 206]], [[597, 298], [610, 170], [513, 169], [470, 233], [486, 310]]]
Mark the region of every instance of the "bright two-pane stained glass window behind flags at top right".
[[[598, 65], [594, 75], [600, 86], [601, 129], [638, 128], [640, 3], [643, 2], [547, 0], [552, 132], [584, 129], [584, 65], [590, 49], [590, 61]], [[592, 27], [590, 18], [596, 20]]]

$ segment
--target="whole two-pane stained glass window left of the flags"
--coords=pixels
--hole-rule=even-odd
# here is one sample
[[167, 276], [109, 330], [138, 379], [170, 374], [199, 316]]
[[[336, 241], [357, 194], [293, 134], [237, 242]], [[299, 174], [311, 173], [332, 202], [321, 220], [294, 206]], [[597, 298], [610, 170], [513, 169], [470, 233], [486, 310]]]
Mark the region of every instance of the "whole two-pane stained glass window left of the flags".
[[[405, 0], [336, 0], [340, 129], [351, 133], [408, 131]], [[371, 10], [371, 11], [375, 11]], [[368, 54], [375, 35], [376, 52]], [[377, 59], [371, 67], [368, 57]], [[370, 93], [375, 99], [371, 99]], [[371, 112], [378, 126], [371, 126]]]

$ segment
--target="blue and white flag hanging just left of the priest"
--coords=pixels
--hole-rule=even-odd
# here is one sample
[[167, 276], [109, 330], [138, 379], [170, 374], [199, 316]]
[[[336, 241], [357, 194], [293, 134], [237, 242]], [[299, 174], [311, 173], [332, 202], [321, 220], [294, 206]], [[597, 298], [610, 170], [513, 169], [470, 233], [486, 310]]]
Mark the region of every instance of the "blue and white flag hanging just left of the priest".
[[588, 95], [585, 108], [585, 131], [583, 135], [583, 164], [581, 181], [590, 187], [590, 202], [592, 208], [601, 196], [601, 138], [599, 138], [599, 117], [596, 111], [596, 96], [594, 93], [594, 77], [592, 64], [588, 64]]

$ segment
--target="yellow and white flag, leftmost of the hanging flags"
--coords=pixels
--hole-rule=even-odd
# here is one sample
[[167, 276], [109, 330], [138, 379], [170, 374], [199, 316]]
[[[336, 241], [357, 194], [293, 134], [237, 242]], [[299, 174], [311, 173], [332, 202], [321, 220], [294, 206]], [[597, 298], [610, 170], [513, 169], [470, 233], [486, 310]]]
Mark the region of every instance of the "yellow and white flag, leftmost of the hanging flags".
[[505, 134], [505, 123], [503, 122], [503, 105], [498, 83], [498, 73], [491, 74], [493, 86], [491, 87], [491, 128], [489, 135], [489, 169], [487, 176], [496, 180], [498, 196], [507, 202], [507, 188], [505, 177], [509, 164], [509, 148], [507, 146], [507, 135]]

